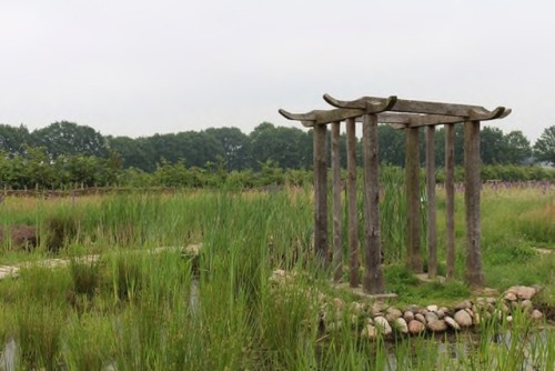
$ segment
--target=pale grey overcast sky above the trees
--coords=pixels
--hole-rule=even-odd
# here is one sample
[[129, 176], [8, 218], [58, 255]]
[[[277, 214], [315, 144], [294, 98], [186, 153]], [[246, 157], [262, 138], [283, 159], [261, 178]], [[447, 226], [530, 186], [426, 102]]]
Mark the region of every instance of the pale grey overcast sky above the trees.
[[263, 121], [339, 99], [511, 107], [555, 124], [555, 2], [0, 0], [0, 123], [112, 136]]

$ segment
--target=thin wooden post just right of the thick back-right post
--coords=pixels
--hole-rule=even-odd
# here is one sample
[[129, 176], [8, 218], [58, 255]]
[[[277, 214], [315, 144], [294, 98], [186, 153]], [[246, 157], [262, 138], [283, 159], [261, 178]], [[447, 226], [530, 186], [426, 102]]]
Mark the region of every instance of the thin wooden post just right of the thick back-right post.
[[437, 275], [437, 232], [435, 225], [435, 127], [426, 127], [427, 277]]

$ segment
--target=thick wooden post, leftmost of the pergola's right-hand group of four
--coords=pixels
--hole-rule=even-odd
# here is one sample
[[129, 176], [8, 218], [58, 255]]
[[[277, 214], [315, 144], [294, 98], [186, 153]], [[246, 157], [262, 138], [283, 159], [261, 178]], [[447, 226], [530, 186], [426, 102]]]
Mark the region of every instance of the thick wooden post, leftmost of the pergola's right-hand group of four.
[[406, 184], [406, 229], [407, 229], [407, 265], [415, 272], [422, 272], [420, 255], [420, 156], [418, 128], [405, 129], [405, 184]]

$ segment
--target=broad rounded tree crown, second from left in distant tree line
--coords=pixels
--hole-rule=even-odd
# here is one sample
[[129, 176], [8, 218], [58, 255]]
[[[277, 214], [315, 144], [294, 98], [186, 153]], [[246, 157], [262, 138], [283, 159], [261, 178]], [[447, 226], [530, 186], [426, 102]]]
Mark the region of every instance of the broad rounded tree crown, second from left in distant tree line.
[[31, 134], [36, 147], [46, 147], [52, 159], [61, 154], [105, 157], [108, 143], [94, 129], [74, 122], [59, 121], [34, 130]]

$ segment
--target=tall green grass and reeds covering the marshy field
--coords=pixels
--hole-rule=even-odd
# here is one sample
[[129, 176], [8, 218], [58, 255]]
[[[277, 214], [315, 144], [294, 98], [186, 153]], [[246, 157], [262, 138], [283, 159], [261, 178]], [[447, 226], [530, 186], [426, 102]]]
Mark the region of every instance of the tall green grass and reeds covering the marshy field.
[[[393, 303], [450, 304], [472, 297], [460, 280], [422, 283], [403, 267], [400, 194], [398, 187], [386, 189], [382, 202], [386, 289], [398, 294]], [[440, 191], [440, 273], [443, 200]], [[52, 257], [72, 263], [56, 270], [29, 265], [20, 277], [0, 281], [0, 343], [16, 341], [17, 369], [519, 370], [524, 364], [551, 370], [555, 364], [552, 328], [542, 330], [518, 313], [511, 325], [484, 322], [480, 337], [370, 341], [346, 321], [323, 333], [322, 293], [353, 298], [331, 289], [331, 272], [313, 264], [312, 208], [305, 189], [6, 198], [0, 225], [38, 225], [41, 239], [32, 252], [4, 241], [0, 264]], [[460, 279], [463, 212], [457, 193]], [[555, 189], [485, 188], [482, 232], [486, 285], [502, 292], [539, 284], [534, 302], [553, 309]], [[198, 258], [176, 250], [150, 253], [199, 242]], [[78, 260], [88, 253], [101, 259]], [[276, 268], [297, 272], [295, 284], [269, 280]]]

